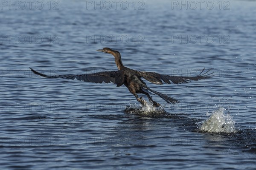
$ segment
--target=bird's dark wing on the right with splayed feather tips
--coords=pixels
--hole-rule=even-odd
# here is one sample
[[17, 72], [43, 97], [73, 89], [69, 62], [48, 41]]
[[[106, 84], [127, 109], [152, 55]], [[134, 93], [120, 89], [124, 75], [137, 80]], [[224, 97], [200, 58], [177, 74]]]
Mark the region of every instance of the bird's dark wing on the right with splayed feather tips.
[[[200, 74], [198, 74], [195, 77], [182, 77], [182, 76], [169, 76], [169, 75], [165, 75], [165, 74], [158, 74], [158, 73], [154, 73], [154, 72], [145, 72], [145, 71], [138, 71], [138, 73], [140, 74], [141, 77], [143, 77], [144, 79], [148, 80], [149, 82], [152, 82], [154, 84], [158, 84], [158, 85], [162, 85], [163, 82], [167, 83], [167, 84], [171, 84], [171, 82], [173, 82], [174, 84], [181, 84], [181, 83], [188, 83], [191, 82], [190, 80], [200, 80], [200, 79], [209, 79], [210, 77], [213, 77], [213, 73], [209, 73], [211, 69], [209, 69], [208, 71], [204, 72], [201, 71]], [[163, 82], [162, 82], [163, 80]], [[170, 82], [171, 81], [171, 82]]]

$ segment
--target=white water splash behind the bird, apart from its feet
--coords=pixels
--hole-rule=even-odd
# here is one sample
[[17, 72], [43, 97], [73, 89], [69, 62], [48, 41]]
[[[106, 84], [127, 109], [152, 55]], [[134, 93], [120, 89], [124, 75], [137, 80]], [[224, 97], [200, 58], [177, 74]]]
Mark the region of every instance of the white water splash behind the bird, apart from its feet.
[[224, 115], [224, 108], [219, 108], [211, 113], [209, 119], [199, 127], [201, 132], [209, 133], [234, 133], [236, 132], [235, 122], [229, 114]]

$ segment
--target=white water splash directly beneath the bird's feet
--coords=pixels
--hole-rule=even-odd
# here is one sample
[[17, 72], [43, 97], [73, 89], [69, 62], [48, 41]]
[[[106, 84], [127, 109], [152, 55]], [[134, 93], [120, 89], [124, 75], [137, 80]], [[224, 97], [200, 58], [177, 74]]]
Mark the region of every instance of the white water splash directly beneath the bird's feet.
[[136, 105], [126, 106], [126, 113], [138, 114], [141, 116], [159, 116], [166, 114], [167, 112], [164, 110], [164, 106], [155, 107], [150, 102], [144, 101], [144, 105], [140, 108], [137, 108]]

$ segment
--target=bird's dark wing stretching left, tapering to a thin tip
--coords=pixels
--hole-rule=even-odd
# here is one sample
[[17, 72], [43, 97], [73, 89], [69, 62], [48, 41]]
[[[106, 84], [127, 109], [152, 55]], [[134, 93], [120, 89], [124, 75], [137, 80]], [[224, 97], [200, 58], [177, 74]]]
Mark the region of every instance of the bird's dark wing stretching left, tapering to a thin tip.
[[56, 75], [56, 76], [47, 76], [46, 74], [41, 74], [32, 68], [30, 68], [35, 74], [38, 74], [42, 77], [47, 78], [63, 78], [63, 79], [77, 79], [84, 82], [95, 82], [95, 83], [110, 83], [113, 82], [117, 86], [121, 86], [124, 82], [124, 74], [122, 71], [102, 71], [92, 74], [65, 74], [65, 75]]

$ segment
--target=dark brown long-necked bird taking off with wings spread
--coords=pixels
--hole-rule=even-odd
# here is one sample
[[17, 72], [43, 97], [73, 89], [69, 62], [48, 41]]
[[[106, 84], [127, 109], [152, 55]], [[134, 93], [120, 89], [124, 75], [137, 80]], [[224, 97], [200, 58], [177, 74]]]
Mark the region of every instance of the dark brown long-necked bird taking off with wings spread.
[[[133, 94], [137, 101], [140, 102], [142, 105], [145, 103], [145, 101], [142, 99], [142, 97], [138, 97], [137, 94], [145, 94], [149, 101], [156, 107], [160, 106], [159, 103], [152, 100], [152, 97], [149, 95], [149, 91], [153, 92], [154, 94], [157, 94], [162, 99], [164, 99], [167, 103], [178, 103], [179, 101], [166, 96], [165, 94], [161, 94], [157, 91], [154, 91], [146, 85], [146, 83], [141, 79], [142, 77], [149, 82], [152, 82], [157, 85], [163, 84], [163, 82], [167, 84], [171, 84], [171, 82], [175, 84], [181, 84], [181, 83], [188, 83], [190, 80], [200, 80], [200, 79], [208, 79], [212, 77], [212, 73], [208, 73], [206, 71], [203, 74], [203, 71], [201, 71], [200, 74], [198, 74], [195, 77], [180, 77], [180, 76], [169, 76], [164, 74], [158, 74], [154, 72], [145, 72], [145, 71], [137, 71], [130, 68], [125, 67], [122, 64], [121, 55], [118, 51], [114, 51], [110, 48], [103, 48], [97, 51], [102, 51], [105, 53], [112, 54], [115, 57], [116, 65], [118, 68], [118, 71], [102, 71], [98, 73], [93, 74], [80, 74], [80, 75], [74, 75], [74, 74], [65, 74], [65, 75], [57, 75], [57, 76], [47, 76], [45, 74], [41, 74], [32, 68], [30, 68], [35, 74], [38, 74], [43, 77], [47, 78], [64, 78], [64, 79], [78, 79], [84, 82], [95, 82], [95, 83], [110, 83], [113, 82], [116, 84], [117, 87], [121, 85], [125, 85], [131, 94]], [[163, 82], [162, 82], [163, 81]], [[171, 82], [170, 82], [171, 81]]]

